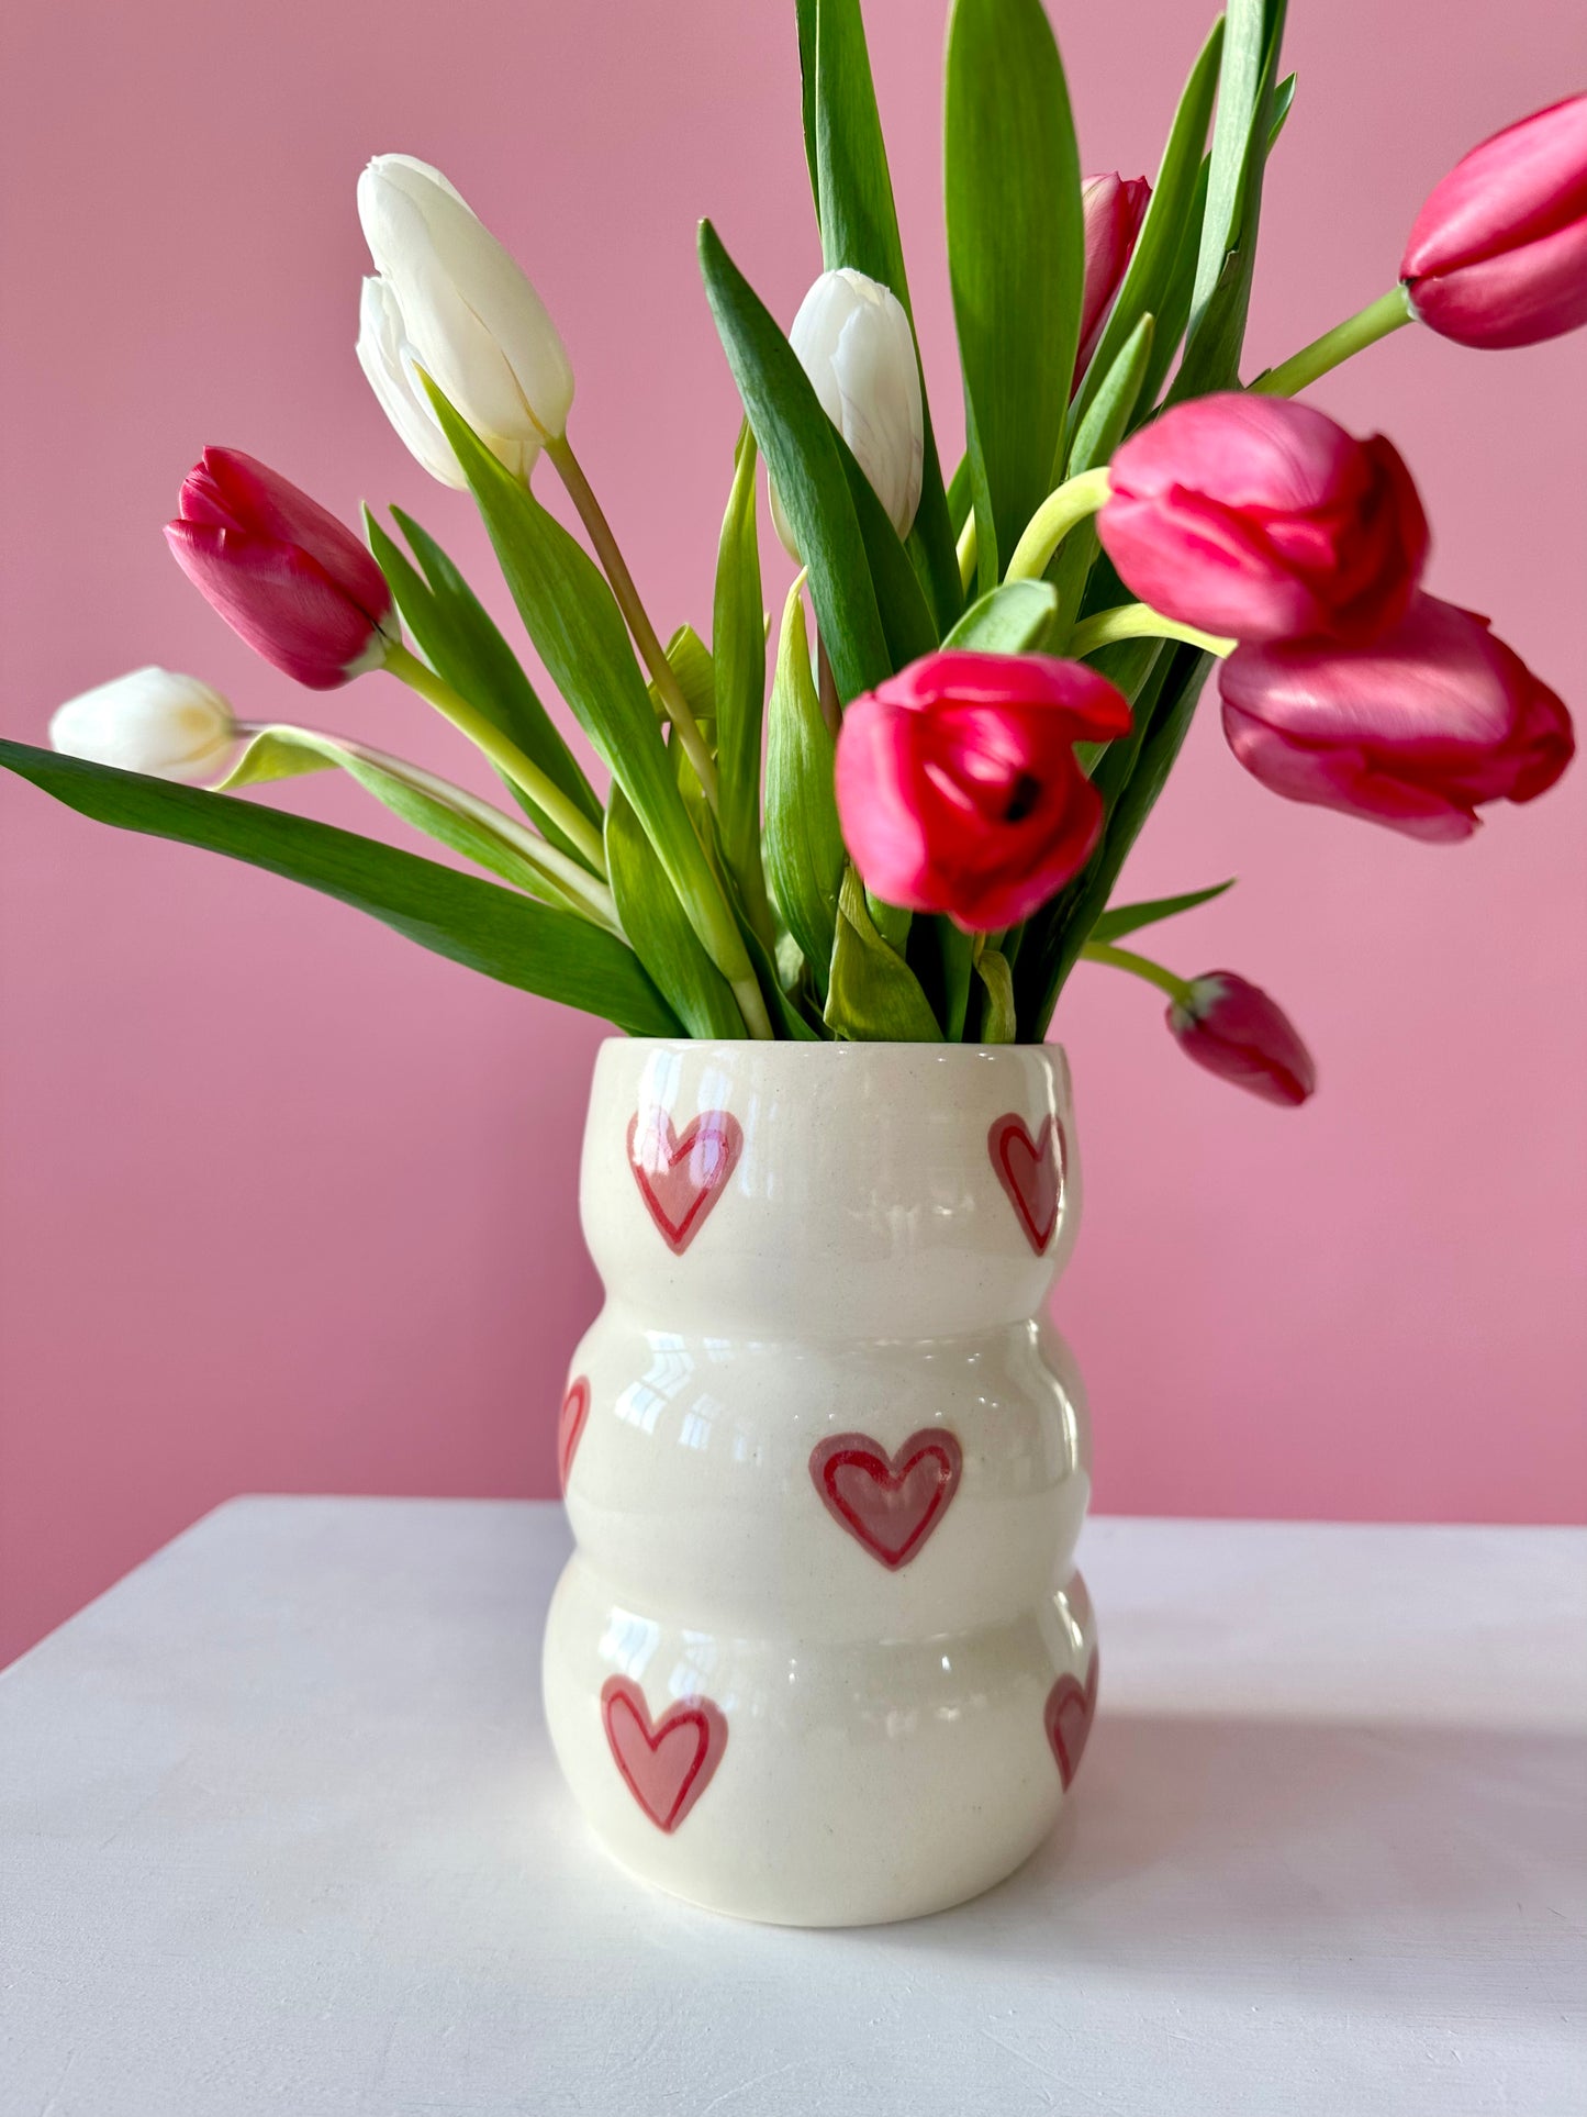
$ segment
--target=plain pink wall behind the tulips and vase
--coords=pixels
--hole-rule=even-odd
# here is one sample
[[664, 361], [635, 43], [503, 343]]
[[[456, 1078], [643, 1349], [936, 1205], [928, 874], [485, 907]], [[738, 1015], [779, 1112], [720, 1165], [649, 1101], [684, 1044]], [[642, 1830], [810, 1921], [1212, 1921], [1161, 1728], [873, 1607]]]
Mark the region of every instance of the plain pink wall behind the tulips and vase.
[[[1471, 38], [1437, 0], [1291, 13], [1253, 364], [1380, 292], [1447, 163], [1587, 74], [1579, 0], [1517, 0]], [[525, 260], [647, 599], [662, 629], [707, 627], [736, 413], [694, 220], [791, 315], [819, 269], [791, 15], [19, 0], [4, 732], [42, 741], [57, 699], [161, 661], [250, 716], [468, 768], [385, 677], [294, 694], [159, 533], [222, 440], [349, 517], [411, 506], [491, 578], [468, 502], [408, 462], [353, 364], [353, 180], [381, 148], [440, 163]], [[870, 6], [948, 453], [942, 15]], [[1210, 6], [1054, 15], [1086, 165], [1151, 171]], [[1483, 356], [1403, 332], [1316, 390], [1411, 459], [1433, 586], [1579, 705], [1581, 383], [1581, 339]], [[349, 785], [279, 798], [383, 821]], [[1240, 876], [1162, 948], [1267, 984], [1322, 1092], [1301, 1114], [1240, 1097], [1179, 1056], [1145, 987], [1075, 978], [1090, 1207], [1060, 1315], [1102, 1507], [1581, 1514], [1585, 804], [1579, 768], [1475, 845], [1424, 849], [1265, 796], [1202, 718], [1128, 881]], [[550, 1492], [563, 1361], [597, 1304], [571, 1215], [601, 1027], [13, 781], [0, 828], [0, 1649], [235, 1490]]]

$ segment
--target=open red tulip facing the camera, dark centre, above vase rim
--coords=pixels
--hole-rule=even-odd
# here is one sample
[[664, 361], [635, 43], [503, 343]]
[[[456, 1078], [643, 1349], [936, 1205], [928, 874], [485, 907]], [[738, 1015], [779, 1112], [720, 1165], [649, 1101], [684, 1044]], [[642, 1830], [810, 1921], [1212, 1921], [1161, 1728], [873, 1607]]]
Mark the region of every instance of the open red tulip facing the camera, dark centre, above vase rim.
[[1050, 654], [927, 654], [855, 699], [838, 737], [838, 817], [889, 904], [1016, 925], [1077, 874], [1102, 800], [1077, 741], [1128, 735], [1094, 669]]

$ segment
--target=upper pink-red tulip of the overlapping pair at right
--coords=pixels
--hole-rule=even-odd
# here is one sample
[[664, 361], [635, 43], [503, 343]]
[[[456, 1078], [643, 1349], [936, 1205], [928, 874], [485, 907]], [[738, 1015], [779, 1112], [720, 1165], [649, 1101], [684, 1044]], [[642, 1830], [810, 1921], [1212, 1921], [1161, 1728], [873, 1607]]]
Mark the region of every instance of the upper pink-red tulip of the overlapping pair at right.
[[1238, 639], [1369, 639], [1403, 614], [1428, 544], [1390, 442], [1238, 392], [1124, 442], [1098, 533], [1145, 603]]

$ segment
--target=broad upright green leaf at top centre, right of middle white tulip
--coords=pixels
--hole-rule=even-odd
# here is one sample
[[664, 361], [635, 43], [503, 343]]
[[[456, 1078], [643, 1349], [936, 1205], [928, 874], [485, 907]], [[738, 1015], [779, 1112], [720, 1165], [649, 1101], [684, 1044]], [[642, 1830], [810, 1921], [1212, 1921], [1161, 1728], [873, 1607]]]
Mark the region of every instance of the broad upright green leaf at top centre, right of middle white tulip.
[[954, 0], [944, 180], [990, 589], [1058, 476], [1086, 277], [1075, 125], [1041, 0]]

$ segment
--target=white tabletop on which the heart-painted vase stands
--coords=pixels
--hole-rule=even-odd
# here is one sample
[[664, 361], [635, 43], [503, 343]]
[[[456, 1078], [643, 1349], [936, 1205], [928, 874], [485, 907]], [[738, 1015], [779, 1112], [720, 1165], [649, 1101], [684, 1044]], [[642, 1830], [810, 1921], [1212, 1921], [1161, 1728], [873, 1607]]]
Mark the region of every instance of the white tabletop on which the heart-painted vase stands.
[[1579, 2117], [1587, 1533], [1096, 1520], [980, 1903], [647, 1895], [540, 1719], [561, 1509], [245, 1499], [0, 1679], [4, 2117]]

